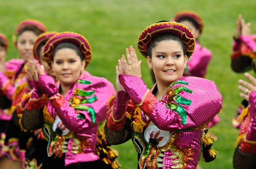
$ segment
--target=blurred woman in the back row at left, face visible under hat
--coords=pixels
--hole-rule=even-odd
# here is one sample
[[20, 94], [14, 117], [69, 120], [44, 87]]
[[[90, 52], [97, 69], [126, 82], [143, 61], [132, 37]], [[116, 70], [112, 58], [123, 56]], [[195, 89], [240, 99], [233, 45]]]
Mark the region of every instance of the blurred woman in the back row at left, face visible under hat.
[[[21, 132], [18, 124], [15, 123], [17, 122], [16, 119], [18, 119], [15, 108], [21, 100], [24, 90], [27, 90], [27, 82], [28, 84], [32, 82], [32, 76], [27, 76], [27, 63], [34, 58], [32, 53], [34, 41], [39, 34], [46, 30], [45, 25], [37, 20], [22, 21], [18, 24], [13, 34], [13, 42], [21, 59], [11, 59], [5, 64], [0, 63], [1, 67], [4, 67], [4, 70], [0, 71], [0, 88], [6, 96], [5, 99], [12, 102], [12, 106], [8, 107], [11, 108], [8, 110], [8, 114], [12, 120], [6, 120], [8, 124], [4, 128], [8, 128], [8, 131], [6, 137], [2, 139], [8, 148], [3, 148], [1, 151], [4, 151], [3, 154], [14, 162], [14, 168], [22, 168], [21, 162], [23, 161], [24, 152], [27, 149], [26, 144], [30, 136], [30, 133]], [[0, 102], [5, 103], [6, 100], [1, 99]], [[8, 152], [7, 150], [10, 151]]]

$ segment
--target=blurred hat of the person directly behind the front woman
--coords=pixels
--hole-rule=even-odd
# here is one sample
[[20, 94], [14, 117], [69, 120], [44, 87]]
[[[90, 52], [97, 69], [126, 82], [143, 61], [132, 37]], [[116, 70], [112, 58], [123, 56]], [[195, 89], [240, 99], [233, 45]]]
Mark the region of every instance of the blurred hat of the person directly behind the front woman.
[[195, 11], [182, 10], [174, 16], [172, 21], [180, 22], [180, 20], [184, 17], [192, 19], [197, 24], [200, 33], [202, 32], [202, 30], [204, 28], [204, 22], [203, 22], [202, 18], [200, 17], [200, 15], [198, 13], [196, 13]]

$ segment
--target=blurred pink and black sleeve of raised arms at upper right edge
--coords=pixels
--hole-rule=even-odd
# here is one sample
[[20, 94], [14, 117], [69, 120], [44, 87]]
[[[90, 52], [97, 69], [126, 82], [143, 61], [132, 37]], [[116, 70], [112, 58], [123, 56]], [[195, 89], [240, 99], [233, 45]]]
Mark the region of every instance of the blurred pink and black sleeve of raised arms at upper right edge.
[[256, 57], [256, 34], [251, 36], [241, 35], [239, 39], [234, 39], [233, 51], [231, 54], [231, 67], [235, 72], [245, 72], [255, 70]]

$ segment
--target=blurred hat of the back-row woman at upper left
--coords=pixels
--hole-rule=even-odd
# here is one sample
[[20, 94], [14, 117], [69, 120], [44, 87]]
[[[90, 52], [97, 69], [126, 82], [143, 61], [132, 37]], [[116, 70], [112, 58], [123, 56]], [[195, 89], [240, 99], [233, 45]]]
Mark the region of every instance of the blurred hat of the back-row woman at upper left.
[[41, 23], [40, 21], [37, 21], [35, 19], [24, 20], [21, 23], [19, 23], [19, 25], [16, 27], [16, 29], [13, 33], [13, 43], [14, 43], [15, 47], [17, 47], [18, 34], [19, 34], [20, 30], [22, 30], [25, 27], [34, 27], [38, 30], [38, 32], [40, 34], [47, 31], [46, 26], [43, 23]]

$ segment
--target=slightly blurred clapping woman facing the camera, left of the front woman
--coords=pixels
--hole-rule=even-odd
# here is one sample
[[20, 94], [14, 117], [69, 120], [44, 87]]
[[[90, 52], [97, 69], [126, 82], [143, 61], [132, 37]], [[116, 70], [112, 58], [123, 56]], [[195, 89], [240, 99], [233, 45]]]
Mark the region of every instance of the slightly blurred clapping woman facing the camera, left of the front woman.
[[117, 154], [98, 131], [115, 88], [84, 70], [92, 56], [89, 42], [78, 33], [57, 33], [47, 41], [43, 56], [59, 83], [36, 65], [34, 88], [21, 118], [24, 129], [43, 126], [49, 144], [41, 168], [118, 168]]

